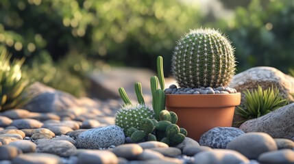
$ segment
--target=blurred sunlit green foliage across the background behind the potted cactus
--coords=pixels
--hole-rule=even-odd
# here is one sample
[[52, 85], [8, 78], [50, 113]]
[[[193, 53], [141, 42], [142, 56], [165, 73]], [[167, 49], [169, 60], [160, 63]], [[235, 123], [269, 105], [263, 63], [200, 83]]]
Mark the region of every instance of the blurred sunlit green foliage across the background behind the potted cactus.
[[77, 96], [85, 92], [84, 73], [103, 67], [96, 60], [155, 70], [162, 55], [170, 75], [175, 41], [199, 27], [219, 28], [232, 40], [238, 72], [294, 68], [294, 1], [231, 2], [223, 0], [234, 18], [219, 20], [188, 0], [1, 0], [0, 47], [26, 57], [27, 76]]

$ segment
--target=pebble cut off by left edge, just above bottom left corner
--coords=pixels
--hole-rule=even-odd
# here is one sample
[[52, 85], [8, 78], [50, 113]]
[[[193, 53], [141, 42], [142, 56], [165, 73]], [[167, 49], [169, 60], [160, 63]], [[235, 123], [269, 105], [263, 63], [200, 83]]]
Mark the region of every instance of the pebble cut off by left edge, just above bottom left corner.
[[0, 146], [0, 161], [12, 160], [22, 153], [21, 150], [14, 146]]

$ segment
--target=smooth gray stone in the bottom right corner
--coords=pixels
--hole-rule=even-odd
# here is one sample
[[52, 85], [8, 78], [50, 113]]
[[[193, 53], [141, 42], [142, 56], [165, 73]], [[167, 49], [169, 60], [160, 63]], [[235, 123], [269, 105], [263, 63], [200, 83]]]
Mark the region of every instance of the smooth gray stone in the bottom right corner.
[[294, 163], [293, 150], [278, 150], [273, 152], [265, 152], [258, 157], [260, 163], [267, 164], [291, 164]]

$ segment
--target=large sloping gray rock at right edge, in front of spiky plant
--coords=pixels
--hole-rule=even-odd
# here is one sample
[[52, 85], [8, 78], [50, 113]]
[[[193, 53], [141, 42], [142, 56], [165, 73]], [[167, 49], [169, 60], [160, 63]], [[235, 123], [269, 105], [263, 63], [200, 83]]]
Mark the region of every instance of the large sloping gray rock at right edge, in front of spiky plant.
[[247, 132], [264, 132], [273, 138], [291, 139], [294, 136], [294, 102], [267, 113], [260, 118], [248, 120], [240, 128]]

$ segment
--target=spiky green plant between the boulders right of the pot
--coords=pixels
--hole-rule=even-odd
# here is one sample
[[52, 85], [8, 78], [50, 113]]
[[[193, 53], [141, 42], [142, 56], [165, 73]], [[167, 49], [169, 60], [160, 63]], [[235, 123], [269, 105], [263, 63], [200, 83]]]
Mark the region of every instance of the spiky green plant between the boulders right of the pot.
[[243, 92], [245, 94], [245, 102], [243, 106], [238, 106], [236, 114], [241, 115], [245, 120], [238, 122], [242, 123], [246, 120], [259, 118], [275, 109], [289, 104], [289, 100], [283, 98], [277, 87], [269, 87], [267, 90], [262, 90], [258, 85], [257, 90]]

